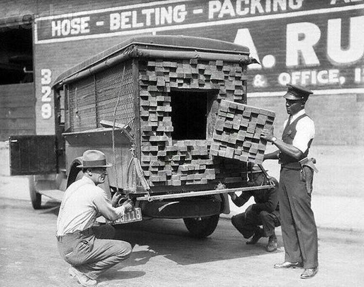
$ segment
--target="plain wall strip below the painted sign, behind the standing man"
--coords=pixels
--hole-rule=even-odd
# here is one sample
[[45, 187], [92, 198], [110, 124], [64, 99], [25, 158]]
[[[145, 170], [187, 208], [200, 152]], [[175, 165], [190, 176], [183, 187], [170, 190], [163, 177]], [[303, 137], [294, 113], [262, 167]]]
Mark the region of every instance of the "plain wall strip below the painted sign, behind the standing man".
[[[251, 97], [248, 104], [276, 112], [274, 131], [281, 136], [287, 119], [282, 97]], [[311, 95], [306, 112], [315, 123], [314, 145], [364, 145], [364, 95]]]

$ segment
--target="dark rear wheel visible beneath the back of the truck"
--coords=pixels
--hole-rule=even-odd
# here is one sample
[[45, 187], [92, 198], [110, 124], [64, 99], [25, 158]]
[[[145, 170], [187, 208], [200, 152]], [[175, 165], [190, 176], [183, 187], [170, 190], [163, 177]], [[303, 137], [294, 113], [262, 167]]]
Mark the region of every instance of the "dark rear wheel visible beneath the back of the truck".
[[184, 225], [193, 237], [205, 238], [212, 234], [217, 226], [220, 215], [207, 217], [183, 218]]

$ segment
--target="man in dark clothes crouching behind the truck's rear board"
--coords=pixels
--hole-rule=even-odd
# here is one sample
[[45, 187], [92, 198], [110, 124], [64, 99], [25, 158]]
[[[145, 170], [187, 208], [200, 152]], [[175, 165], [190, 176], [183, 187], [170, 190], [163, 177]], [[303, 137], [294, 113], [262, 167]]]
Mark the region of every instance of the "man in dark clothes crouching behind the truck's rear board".
[[[269, 184], [258, 165], [250, 167], [248, 178], [248, 184], [252, 186]], [[229, 193], [232, 202], [238, 207], [243, 206], [250, 197], [254, 197], [255, 204], [250, 205], [245, 212], [232, 216], [232, 225], [243, 234], [244, 238], [251, 237], [246, 242], [247, 244], [256, 244], [260, 238], [269, 237], [266, 246], [268, 252], [277, 250], [277, 237], [274, 229], [281, 225], [277, 194], [278, 181], [274, 178], [271, 179], [276, 185], [274, 189], [246, 191], [242, 192], [240, 196]]]

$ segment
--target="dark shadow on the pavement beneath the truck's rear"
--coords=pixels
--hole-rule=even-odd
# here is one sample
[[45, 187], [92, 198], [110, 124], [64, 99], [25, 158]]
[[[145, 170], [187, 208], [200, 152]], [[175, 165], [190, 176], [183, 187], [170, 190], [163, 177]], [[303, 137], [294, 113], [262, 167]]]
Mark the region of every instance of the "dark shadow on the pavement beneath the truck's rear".
[[[181, 219], [153, 219], [118, 225], [116, 236], [133, 246], [129, 266], [144, 265], [154, 256], [164, 256], [179, 265], [191, 265], [269, 254], [265, 251], [267, 238], [262, 238], [254, 246], [246, 245], [240, 233], [226, 223], [219, 223], [215, 232], [202, 240], [190, 237]], [[280, 236], [278, 239], [281, 243]]]

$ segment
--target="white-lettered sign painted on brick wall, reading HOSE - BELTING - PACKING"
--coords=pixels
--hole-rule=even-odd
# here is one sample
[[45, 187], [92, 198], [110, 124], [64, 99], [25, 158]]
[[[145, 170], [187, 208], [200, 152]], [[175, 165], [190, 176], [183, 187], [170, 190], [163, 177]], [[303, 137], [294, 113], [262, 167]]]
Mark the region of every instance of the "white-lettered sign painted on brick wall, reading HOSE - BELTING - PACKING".
[[[162, 0], [35, 18], [34, 43], [146, 33], [216, 38], [248, 46], [261, 64], [249, 66], [248, 96], [281, 95], [287, 83], [344, 94], [364, 93], [362, 31], [364, 0]], [[36, 92], [47, 106], [43, 82]], [[40, 113], [50, 118], [47, 107]]]

